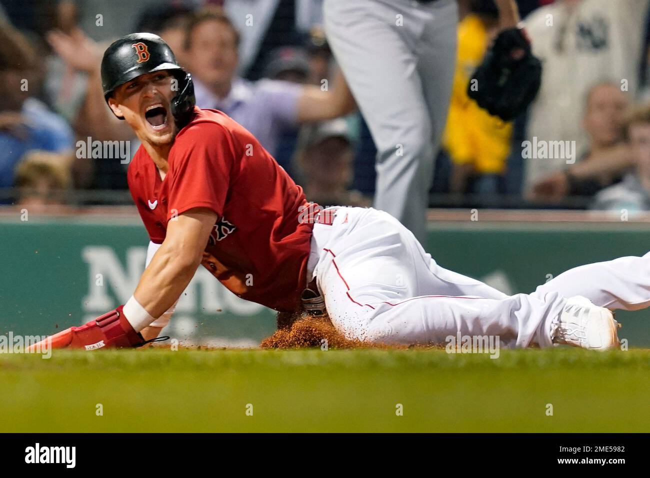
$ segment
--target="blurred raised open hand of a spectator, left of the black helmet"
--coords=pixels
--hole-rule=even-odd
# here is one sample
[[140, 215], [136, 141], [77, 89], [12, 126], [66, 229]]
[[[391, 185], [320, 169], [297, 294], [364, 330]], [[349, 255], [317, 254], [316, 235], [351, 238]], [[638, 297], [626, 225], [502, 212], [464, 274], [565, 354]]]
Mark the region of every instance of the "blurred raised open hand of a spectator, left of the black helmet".
[[101, 67], [102, 51], [99, 45], [79, 28], [70, 34], [60, 30], [47, 32], [47, 42], [63, 60], [85, 73], [94, 73]]

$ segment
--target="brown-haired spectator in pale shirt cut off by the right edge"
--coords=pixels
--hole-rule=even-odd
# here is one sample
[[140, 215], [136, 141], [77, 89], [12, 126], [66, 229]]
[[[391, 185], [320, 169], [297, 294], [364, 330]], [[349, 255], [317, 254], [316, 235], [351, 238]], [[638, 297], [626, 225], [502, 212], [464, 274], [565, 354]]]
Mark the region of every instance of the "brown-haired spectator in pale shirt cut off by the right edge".
[[621, 214], [650, 210], [650, 105], [640, 107], [629, 117], [627, 136], [634, 170], [623, 181], [599, 192], [592, 209]]

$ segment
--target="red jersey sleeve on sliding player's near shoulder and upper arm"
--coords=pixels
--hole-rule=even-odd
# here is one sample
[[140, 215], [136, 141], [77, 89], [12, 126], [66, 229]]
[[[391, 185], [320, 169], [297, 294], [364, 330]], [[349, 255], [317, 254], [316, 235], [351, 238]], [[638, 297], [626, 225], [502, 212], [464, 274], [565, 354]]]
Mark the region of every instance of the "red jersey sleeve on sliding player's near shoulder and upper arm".
[[199, 123], [183, 132], [177, 146], [170, 153], [168, 220], [196, 207], [221, 216], [235, 164], [229, 134], [220, 125]]

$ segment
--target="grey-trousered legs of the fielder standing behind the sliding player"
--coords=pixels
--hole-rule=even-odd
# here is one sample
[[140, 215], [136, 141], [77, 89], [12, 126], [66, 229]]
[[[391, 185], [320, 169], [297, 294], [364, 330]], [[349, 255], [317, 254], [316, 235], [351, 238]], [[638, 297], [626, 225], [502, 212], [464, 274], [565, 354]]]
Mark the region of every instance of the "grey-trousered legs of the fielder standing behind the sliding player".
[[[452, 3], [450, 8], [455, 12]], [[428, 56], [425, 96], [419, 69], [421, 43], [424, 36], [433, 38], [432, 23], [439, 25], [448, 20], [447, 16], [434, 18], [434, 10], [432, 5], [410, 0], [324, 2], [328, 42], [377, 147], [375, 205], [400, 220], [421, 240], [426, 233], [424, 211], [437, 147], [433, 141], [432, 104], [428, 101], [436, 94], [448, 96], [455, 48], [447, 47], [456, 43], [454, 18], [450, 27], [440, 27], [445, 42], [424, 45], [438, 48]], [[435, 68], [437, 60], [440, 64]], [[445, 120], [445, 101], [439, 102], [441, 116], [436, 131], [441, 127], [439, 122]]]

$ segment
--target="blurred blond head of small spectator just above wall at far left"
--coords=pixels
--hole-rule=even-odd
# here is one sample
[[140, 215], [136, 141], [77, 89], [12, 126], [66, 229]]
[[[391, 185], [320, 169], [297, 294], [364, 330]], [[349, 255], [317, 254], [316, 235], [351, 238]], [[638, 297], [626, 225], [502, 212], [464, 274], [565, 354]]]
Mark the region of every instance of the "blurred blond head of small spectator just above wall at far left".
[[27, 153], [16, 165], [16, 204], [27, 208], [29, 212], [66, 204], [72, 187], [72, 160], [72, 155], [47, 151], [34, 150]]

